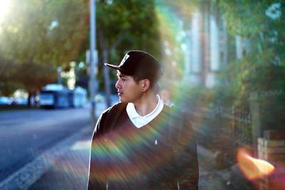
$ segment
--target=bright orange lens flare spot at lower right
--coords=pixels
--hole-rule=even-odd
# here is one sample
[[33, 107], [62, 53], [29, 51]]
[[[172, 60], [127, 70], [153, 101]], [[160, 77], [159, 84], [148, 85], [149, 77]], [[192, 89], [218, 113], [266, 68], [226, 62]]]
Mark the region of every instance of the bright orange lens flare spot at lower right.
[[262, 159], [249, 156], [244, 149], [237, 152], [237, 164], [247, 179], [257, 179], [261, 176], [272, 174], [274, 166]]

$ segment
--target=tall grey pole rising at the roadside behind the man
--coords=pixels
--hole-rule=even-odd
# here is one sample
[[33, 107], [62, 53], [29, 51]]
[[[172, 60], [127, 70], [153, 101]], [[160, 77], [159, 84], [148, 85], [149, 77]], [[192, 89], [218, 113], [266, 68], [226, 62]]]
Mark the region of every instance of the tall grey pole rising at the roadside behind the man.
[[95, 49], [96, 46], [96, 2], [90, 0], [90, 79], [89, 79], [89, 90], [90, 90], [90, 102], [91, 102], [91, 124], [95, 126], [95, 93], [97, 93], [97, 63], [98, 53]]

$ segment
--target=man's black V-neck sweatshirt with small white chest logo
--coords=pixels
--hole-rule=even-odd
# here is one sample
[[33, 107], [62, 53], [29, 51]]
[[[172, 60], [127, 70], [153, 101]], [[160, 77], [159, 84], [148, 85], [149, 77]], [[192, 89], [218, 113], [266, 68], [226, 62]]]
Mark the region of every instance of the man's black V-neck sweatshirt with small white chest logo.
[[[124, 106], [123, 111], [108, 130], [118, 106]], [[180, 190], [198, 189], [194, 133], [190, 120], [178, 113], [171, 122], [170, 107], [165, 105], [154, 120], [137, 128], [123, 104], [103, 112], [92, 139], [88, 189], [106, 189], [107, 183], [108, 190], [177, 189], [177, 181]], [[178, 122], [181, 130], [170, 126]]]

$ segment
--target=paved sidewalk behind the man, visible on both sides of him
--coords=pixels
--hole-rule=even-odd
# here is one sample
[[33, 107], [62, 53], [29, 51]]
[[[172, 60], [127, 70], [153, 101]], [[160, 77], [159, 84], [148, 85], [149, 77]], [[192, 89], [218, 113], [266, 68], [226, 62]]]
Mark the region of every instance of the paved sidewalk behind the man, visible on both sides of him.
[[[91, 127], [82, 132], [78, 139], [66, 147], [68, 151], [56, 159], [38, 181], [28, 190], [80, 190], [86, 189], [88, 180], [88, 157], [90, 150]], [[227, 171], [214, 169], [214, 154], [198, 146], [199, 190], [232, 190], [227, 184]]]

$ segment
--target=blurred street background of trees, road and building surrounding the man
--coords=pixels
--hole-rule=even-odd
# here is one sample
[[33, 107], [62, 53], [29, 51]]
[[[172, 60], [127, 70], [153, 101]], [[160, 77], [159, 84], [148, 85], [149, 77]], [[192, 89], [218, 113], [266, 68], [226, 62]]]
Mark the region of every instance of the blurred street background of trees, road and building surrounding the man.
[[285, 2], [0, 0], [0, 189], [86, 189], [126, 52], [190, 115], [199, 189], [285, 189]]

